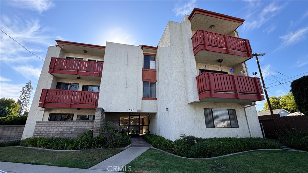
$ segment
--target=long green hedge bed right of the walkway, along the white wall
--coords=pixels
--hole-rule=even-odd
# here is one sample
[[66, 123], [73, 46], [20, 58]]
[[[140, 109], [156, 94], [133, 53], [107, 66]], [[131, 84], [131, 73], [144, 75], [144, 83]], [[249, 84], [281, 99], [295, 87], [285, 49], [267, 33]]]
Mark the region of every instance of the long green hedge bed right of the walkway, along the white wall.
[[[194, 139], [196, 143], [187, 139]], [[279, 142], [263, 138], [198, 138], [187, 136], [171, 141], [157, 135], [143, 135], [153, 147], [188, 158], [209, 158], [256, 149], [281, 149]]]

